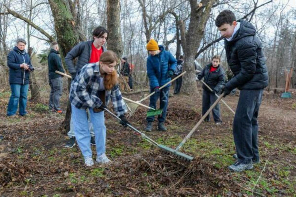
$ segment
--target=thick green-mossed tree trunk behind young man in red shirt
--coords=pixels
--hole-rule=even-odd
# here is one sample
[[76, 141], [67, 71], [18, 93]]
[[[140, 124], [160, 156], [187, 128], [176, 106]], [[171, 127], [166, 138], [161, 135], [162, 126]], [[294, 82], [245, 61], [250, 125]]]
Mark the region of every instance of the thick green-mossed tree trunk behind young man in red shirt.
[[[57, 42], [59, 43], [62, 62], [65, 64], [65, 56], [79, 42], [75, 19], [71, 14], [69, 5], [63, 0], [48, 0], [54, 17], [54, 28], [57, 32]], [[67, 71], [67, 66], [64, 66]], [[71, 80], [68, 79], [68, 87]], [[71, 105], [68, 102], [66, 117], [63, 122], [65, 133], [70, 129]]]

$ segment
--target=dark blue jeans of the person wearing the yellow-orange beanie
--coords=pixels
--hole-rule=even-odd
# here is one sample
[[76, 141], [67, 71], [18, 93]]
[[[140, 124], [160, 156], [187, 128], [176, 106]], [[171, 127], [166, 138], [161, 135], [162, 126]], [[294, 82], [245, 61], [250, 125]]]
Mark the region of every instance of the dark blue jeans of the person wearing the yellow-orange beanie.
[[[150, 92], [153, 92], [153, 89], [150, 88]], [[155, 93], [150, 97], [150, 104], [149, 107], [156, 109], [156, 102], [158, 98], [160, 99], [160, 109], [163, 109], [163, 113], [158, 115], [157, 120], [158, 122], [164, 122], [166, 117], [166, 110], [168, 108], [168, 94], [170, 92], [170, 87], [164, 87], [160, 90], [159, 93]], [[153, 122], [154, 116], [148, 116], [146, 118], [147, 122]]]

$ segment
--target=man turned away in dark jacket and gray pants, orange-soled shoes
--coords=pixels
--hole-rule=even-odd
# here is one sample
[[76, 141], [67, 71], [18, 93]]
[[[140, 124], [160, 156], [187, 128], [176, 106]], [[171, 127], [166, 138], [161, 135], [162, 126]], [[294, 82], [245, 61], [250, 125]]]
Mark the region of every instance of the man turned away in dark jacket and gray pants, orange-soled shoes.
[[49, 107], [54, 109], [57, 113], [62, 113], [59, 105], [59, 99], [62, 96], [63, 80], [62, 76], [56, 74], [55, 71], [65, 73], [61, 58], [59, 57], [59, 45], [57, 42], [50, 44], [50, 51], [47, 57], [48, 60], [48, 78], [50, 85]]

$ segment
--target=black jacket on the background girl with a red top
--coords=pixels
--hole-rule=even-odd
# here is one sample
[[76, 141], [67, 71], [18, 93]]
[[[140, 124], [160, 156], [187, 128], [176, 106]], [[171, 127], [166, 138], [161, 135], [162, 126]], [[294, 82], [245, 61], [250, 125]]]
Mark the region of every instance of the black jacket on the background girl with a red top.
[[[220, 92], [221, 88], [225, 84], [225, 72], [224, 69], [218, 65], [217, 70], [210, 72], [211, 64], [205, 66], [205, 68], [198, 74], [198, 78], [202, 79], [204, 77], [204, 82], [210, 86], [211, 89], [216, 92]], [[211, 92], [204, 84], [202, 88], [208, 92]]]

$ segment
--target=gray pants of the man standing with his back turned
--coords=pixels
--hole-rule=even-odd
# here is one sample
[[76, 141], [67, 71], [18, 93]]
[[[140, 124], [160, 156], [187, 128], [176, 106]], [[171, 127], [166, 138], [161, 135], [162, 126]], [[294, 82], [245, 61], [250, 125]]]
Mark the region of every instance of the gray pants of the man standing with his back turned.
[[59, 105], [59, 99], [62, 96], [63, 80], [62, 77], [49, 79], [50, 95], [49, 95], [49, 107], [54, 110], [61, 110]]

